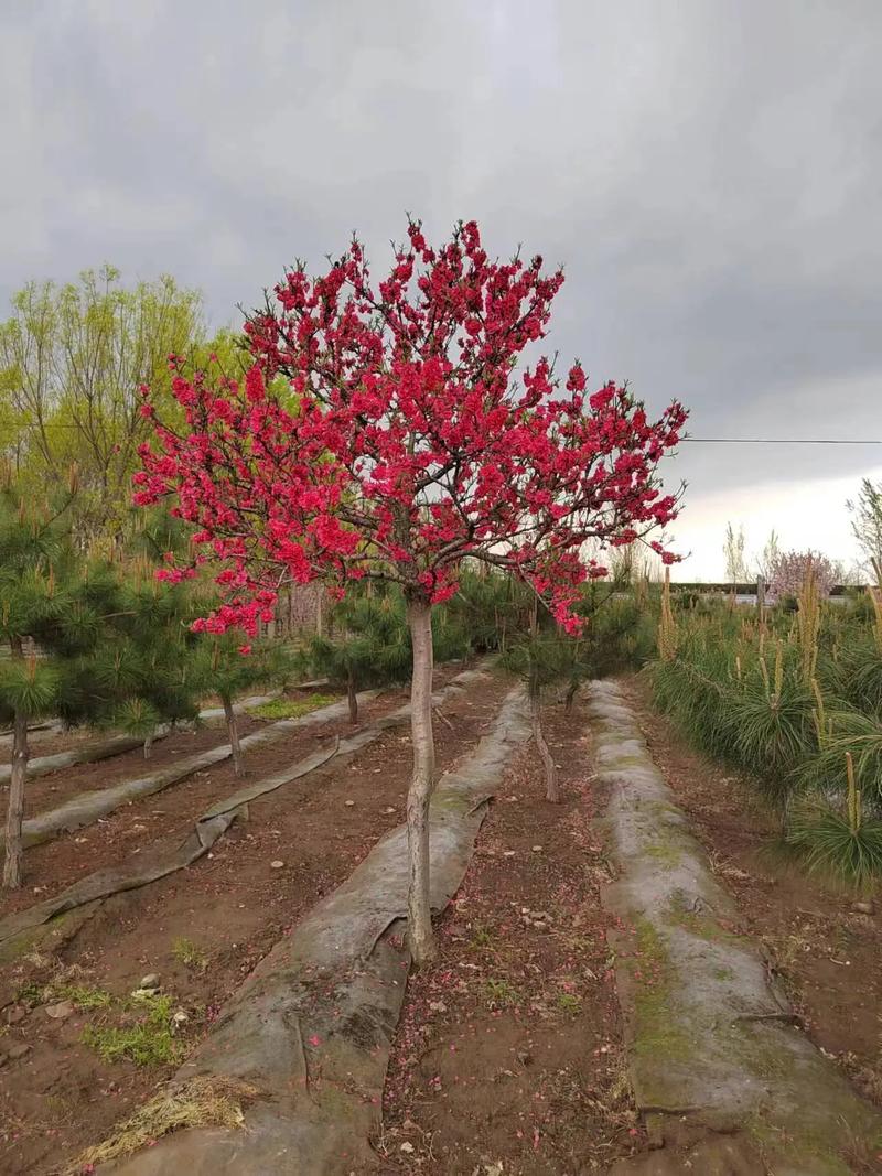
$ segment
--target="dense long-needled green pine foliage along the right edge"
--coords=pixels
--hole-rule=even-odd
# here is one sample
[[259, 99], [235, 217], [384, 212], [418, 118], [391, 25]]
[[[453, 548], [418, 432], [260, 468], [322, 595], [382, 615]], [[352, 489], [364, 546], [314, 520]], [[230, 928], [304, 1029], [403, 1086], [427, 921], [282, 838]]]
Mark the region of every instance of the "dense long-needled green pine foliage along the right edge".
[[648, 668], [656, 706], [690, 742], [781, 806], [786, 843], [808, 867], [860, 886], [882, 871], [875, 621], [871, 608], [826, 603], [815, 632], [787, 604], [762, 622], [717, 604], [690, 612], [677, 656]]

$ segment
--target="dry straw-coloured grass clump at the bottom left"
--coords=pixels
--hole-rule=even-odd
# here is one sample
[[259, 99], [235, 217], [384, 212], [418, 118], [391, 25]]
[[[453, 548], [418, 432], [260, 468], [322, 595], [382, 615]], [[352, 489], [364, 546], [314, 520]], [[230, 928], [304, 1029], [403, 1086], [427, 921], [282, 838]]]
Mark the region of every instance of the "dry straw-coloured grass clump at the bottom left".
[[163, 1090], [127, 1118], [102, 1143], [88, 1148], [67, 1169], [74, 1176], [89, 1165], [129, 1156], [155, 1140], [188, 1127], [245, 1127], [242, 1104], [259, 1090], [235, 1078], [193, 1078], [182, 1087]]

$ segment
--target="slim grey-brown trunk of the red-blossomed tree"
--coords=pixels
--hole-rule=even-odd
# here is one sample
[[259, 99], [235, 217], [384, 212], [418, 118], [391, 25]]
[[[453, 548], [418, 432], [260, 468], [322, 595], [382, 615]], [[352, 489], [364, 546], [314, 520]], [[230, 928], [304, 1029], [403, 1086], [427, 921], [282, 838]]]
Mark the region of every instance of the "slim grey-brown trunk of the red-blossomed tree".
[[435, 780], [435, 741], [432, 731], [432, 608], [420, 599], [407, 604], [413, 646], [410, 736], [414, 770], [407, 794], [408, 941], [417, 968], [435, 954], [429, 901], [429, 800]]

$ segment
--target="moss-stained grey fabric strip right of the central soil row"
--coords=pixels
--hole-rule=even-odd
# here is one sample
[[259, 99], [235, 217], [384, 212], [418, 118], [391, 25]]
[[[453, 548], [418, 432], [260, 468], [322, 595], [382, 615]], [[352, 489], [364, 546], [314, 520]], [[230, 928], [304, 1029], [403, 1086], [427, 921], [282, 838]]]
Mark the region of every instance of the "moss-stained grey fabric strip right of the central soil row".
[[[593, 682], [602, 828], [628, 1073], [656, 1147], [616, 1176], [688, 1167], [776, 1176], [874, 1170], [882, 1115], [809, 1041], [653, 762], [627, 696]], [[677, 1167], [680, 1165], [680, 1167]]]

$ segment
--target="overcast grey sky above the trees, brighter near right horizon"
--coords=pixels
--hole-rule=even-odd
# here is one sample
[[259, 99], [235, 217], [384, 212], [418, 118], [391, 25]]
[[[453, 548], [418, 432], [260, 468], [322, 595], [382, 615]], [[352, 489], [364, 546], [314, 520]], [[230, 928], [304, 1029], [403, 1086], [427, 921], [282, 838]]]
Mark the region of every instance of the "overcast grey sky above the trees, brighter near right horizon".
[[[564, 262], [549, 346], [697, 436], [882, 440], [878, 0], [0, 0], [0, 308], [112, 261], [235, 323], [405, 211]], [[681, 577], [849, 559], [882, 446], [683, 446]]]

